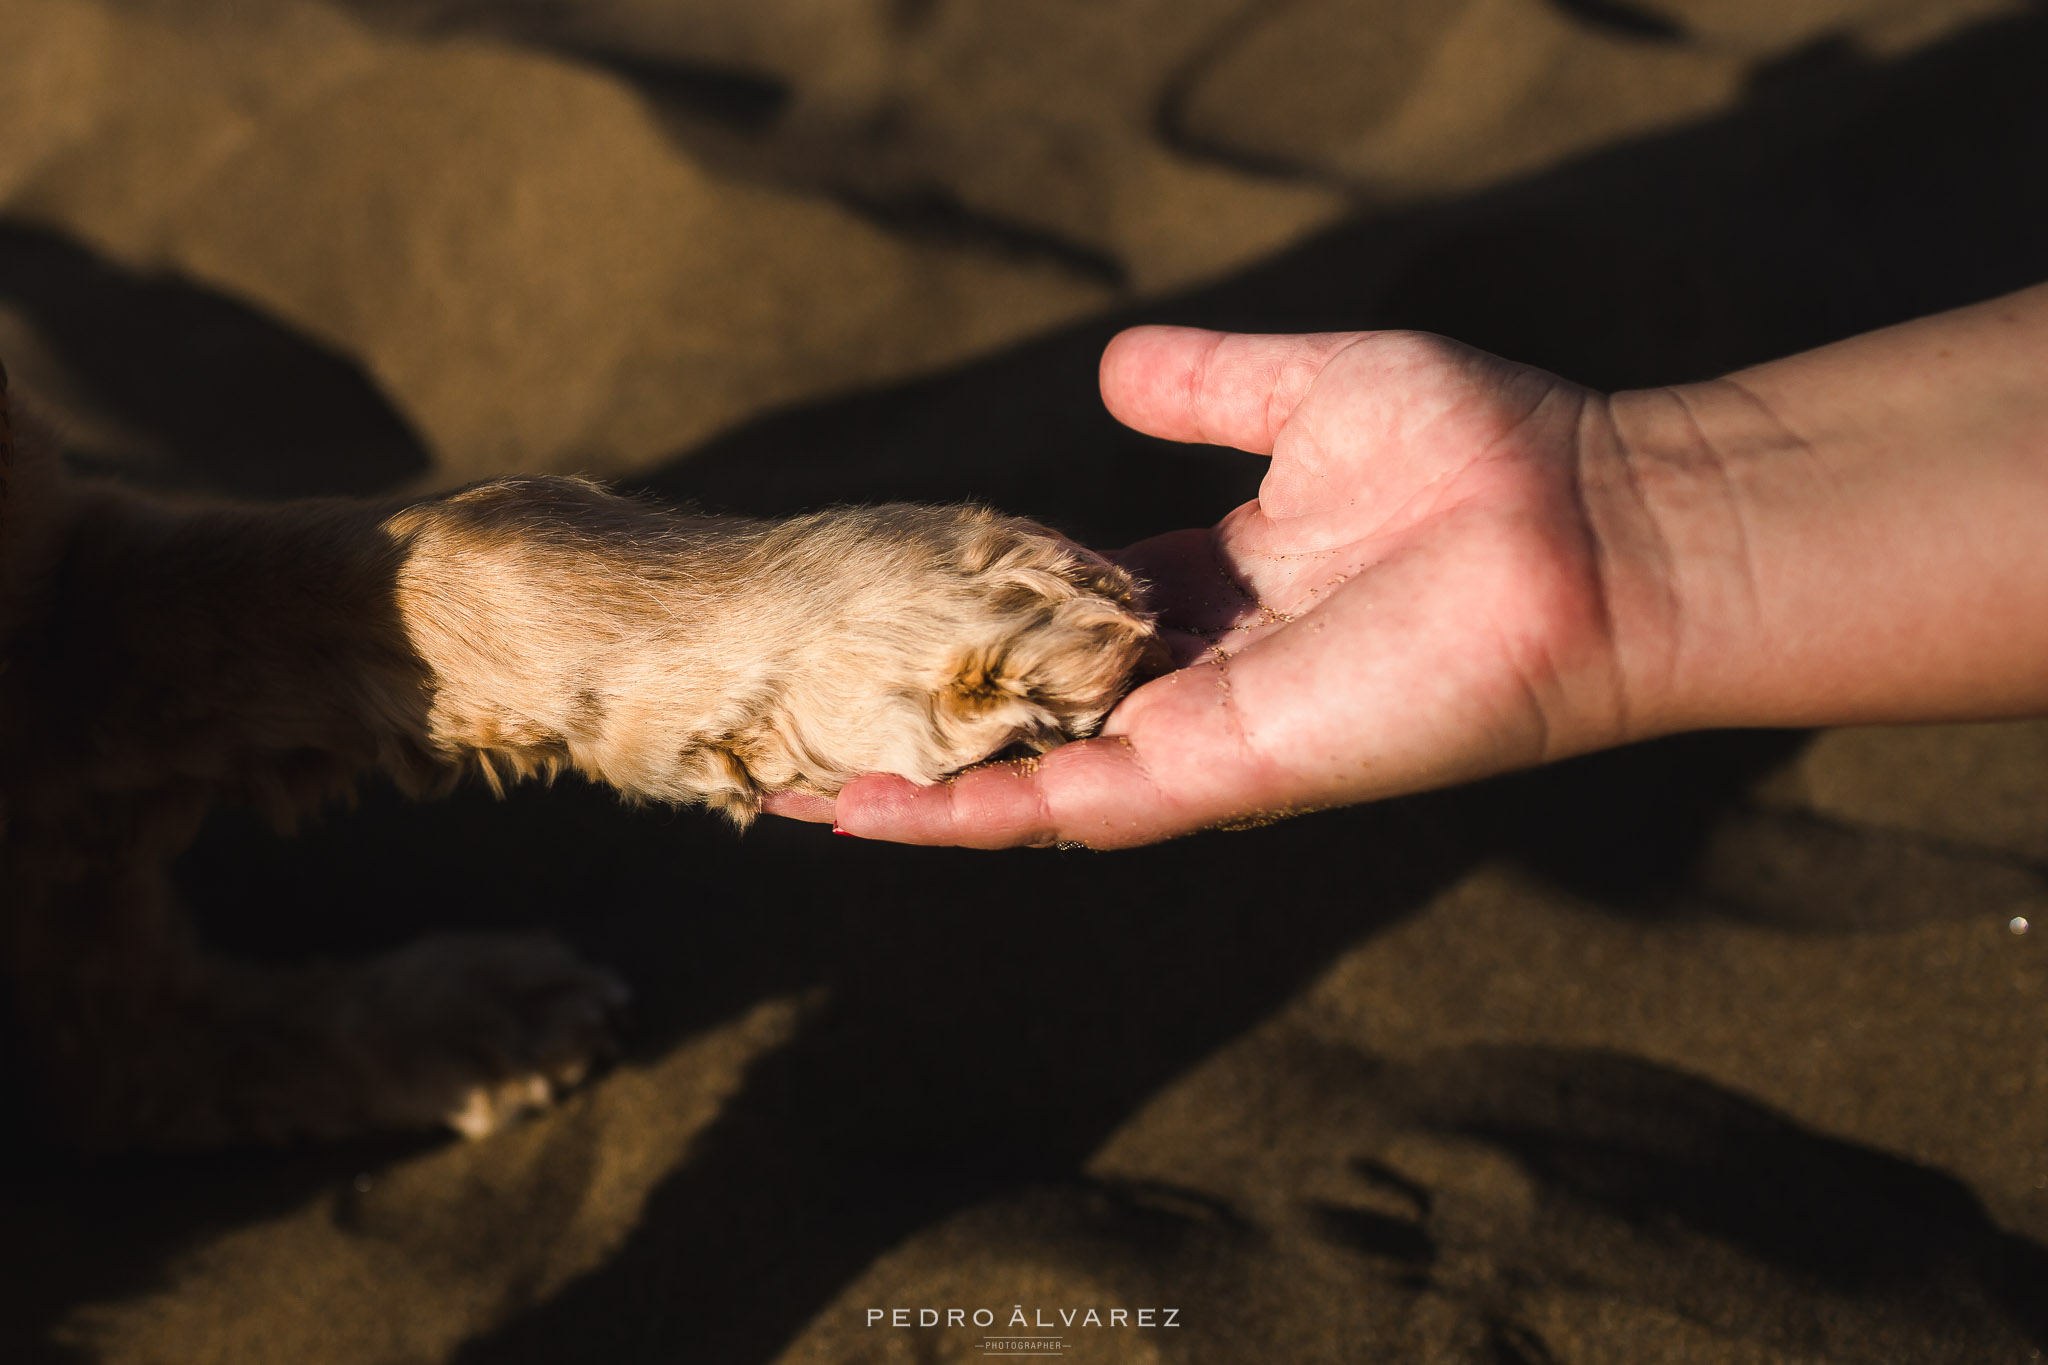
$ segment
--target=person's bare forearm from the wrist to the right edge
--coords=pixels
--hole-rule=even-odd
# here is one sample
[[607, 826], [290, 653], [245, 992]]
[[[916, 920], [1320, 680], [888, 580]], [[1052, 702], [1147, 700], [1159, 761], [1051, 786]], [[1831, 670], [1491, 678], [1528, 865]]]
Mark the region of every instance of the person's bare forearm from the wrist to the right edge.
[[1610, 411], [1632, 733], [2048, 712], [2048, 287]]

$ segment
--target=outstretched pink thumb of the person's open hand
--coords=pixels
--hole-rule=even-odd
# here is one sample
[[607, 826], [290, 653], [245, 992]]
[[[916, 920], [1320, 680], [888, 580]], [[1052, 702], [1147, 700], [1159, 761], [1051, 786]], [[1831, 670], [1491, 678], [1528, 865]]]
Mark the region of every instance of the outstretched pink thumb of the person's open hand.
[[1317, 375], [1360, 336], [1130, 327], [1102, 352], [1102, 401], [1147, 436], [1272, 454]]

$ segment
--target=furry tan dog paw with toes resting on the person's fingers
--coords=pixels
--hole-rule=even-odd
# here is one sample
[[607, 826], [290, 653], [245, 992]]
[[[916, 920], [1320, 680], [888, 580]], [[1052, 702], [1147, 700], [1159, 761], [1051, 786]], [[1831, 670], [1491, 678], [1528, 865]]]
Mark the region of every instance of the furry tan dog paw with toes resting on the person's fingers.
[[682, 778], [745, 825], [770, 792], [860, 774], [928, 784], [1008, 749], [1094, 735], [1163, 671], [1143, 587], [1063, 536], [983, 508], [858, 508], [772, 532], [748, 598], [764, 643], [739, 714]]

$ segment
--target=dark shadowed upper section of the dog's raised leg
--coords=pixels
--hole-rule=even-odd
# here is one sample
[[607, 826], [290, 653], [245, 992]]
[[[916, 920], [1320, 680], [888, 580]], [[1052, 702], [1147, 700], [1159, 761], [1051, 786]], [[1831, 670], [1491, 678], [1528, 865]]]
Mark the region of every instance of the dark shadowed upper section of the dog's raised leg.
[[391, 618], [397, 555], [373, 508], [82, 487], [45, 512], [51, 555], [0, 677], [16, 776], [274, 804], [279, 784], [418, 761], [424, 673]]

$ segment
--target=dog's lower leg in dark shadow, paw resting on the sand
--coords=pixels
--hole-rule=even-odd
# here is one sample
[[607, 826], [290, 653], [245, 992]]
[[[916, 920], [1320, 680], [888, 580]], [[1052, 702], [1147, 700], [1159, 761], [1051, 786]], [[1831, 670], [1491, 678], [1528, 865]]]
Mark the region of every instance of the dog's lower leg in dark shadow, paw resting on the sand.
[[92, 1146], [483, 1136], [602, 1064], [627, 1001], [545, 935], [266, 968], [197, 952], [150, 876], [72, 890], [16, 1005], [39, 1111]]

